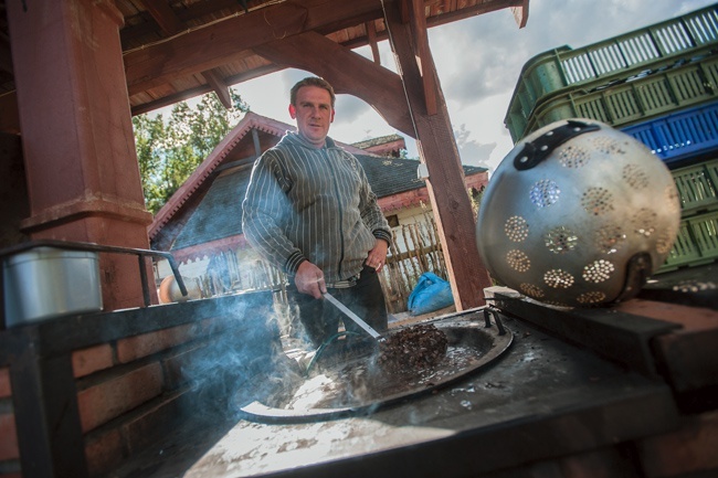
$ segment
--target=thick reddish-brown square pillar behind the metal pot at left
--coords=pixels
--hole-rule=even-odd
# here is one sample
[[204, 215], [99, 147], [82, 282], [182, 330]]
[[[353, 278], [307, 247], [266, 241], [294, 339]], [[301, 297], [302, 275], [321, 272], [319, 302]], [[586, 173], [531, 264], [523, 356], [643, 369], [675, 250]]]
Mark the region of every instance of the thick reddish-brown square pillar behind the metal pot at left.
[[[112, 0], [11, 1], [7, 9], [30, 198], [22, 231], [149, 248], [120, 12]], [[101, 269], [106, 310], [142, 305], [135, 256], [102, 253]]]

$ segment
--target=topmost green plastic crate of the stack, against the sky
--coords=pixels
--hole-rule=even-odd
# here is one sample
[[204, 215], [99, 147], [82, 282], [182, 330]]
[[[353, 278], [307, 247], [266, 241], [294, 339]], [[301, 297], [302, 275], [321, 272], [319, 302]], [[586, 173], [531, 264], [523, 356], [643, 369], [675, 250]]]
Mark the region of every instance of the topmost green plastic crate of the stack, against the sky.
[[[646, 70], [664, 68], [676, 61], [710, 52], [716, 44], [718, 6], [714, 4], [581, 49], [564, 45], [541, 53], [524, 65], [505, 125], [517, 142], [536, 129], [526, 128], [528, 118], [550, 96], [611, 87], [638, 77]], [[714, 65], [712, 71], [708, 68], [705, 72], [712, 85], [718, 85], [717, 70]], [[685, 79], [677, 79], [679, 96], [685, 84]], [[690, 92], [687, 94], [693, 97]], [[648, 99], [652, 96], [650, 94]]]

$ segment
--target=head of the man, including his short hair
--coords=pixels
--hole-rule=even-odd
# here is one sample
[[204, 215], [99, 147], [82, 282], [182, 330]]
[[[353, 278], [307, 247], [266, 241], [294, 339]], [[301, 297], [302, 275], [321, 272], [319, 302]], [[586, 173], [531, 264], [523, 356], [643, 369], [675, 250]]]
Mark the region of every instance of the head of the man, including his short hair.
[[331, 85], [319, 77], [304, 78], [292, 87], [289, 116], [297, 121], [299, 135], [320, 148], [334, 121], [335, 94]]

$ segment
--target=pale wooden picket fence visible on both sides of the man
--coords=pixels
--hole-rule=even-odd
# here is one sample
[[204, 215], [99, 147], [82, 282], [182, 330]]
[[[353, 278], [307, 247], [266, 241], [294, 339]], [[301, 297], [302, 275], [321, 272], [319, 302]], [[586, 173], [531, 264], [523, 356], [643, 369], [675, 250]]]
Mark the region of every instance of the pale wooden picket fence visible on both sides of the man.
[[[425, 272], [446, 278], [446, 263], [431, 213], [421, 221], [392, 230], [393, 243], [380, 275], [390, 314], [408, 310], [409, 295]], [[237, 256], [239, 254], [239, 256]], [[286, 304], [286, 275], [247, 252], [226, 251], [211, 257], [199, 278], [204, 297], [241, 290], [274, 289], [275, 301]]]

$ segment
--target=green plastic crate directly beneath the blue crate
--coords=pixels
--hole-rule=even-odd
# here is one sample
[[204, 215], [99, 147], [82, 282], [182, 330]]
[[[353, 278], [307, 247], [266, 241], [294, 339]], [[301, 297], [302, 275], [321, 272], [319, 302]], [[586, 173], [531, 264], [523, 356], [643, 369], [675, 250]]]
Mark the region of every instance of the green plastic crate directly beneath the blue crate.
[[701, 210], [718, 210], [718, 159], [673, 170], [684, 216]]

